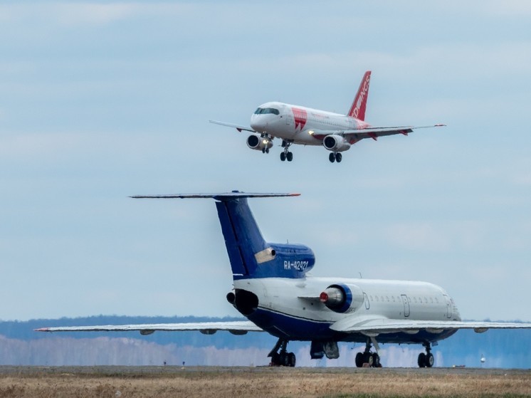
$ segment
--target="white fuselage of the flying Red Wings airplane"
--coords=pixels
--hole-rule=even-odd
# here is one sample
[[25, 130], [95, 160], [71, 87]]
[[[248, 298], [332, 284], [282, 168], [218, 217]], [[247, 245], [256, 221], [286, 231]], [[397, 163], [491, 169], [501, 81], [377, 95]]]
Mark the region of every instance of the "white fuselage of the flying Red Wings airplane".
[[[251, 115], [251, 127], [256, 132], [303, 145], [322, 145], [321, 132], [368, 126], [355, 117], [278, 102], [260, 105]], [[319, 137], [315, 137], [315, 132], [319, 132]]]

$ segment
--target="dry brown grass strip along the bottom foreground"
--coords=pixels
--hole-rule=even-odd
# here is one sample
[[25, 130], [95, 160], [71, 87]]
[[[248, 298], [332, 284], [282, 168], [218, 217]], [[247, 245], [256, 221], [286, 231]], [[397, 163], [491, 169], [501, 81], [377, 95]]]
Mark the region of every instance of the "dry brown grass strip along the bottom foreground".
[[531, 371], [0, 367], [0, 397], [531, 397]]

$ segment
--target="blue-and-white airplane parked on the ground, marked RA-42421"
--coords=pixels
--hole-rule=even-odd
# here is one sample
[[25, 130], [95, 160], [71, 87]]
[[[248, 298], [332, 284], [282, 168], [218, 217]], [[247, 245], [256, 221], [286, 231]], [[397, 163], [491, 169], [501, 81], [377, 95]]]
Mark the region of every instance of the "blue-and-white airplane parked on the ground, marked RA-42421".
[[[288, 342], [310, 342], [310, 356], [339, 357], [338, 342], [365, 345], [355, 357], [357, 367], [380, 367], [379, 344], [419, 344], [425, 352], [419, 367], [433, 366], [432, 345], [459, 329], [531, 328], [531, 323], [463, 321], [450, 295], [433, 283], [362, 278], [321, 278], [310, 275], [315, 266], [311, 248], [301, 244], [268, 243], [248, 206], [248, 198], [293, 197], [298, 194], [149, 195], [134, 198], [211, 198], [224, 235], [233, 275], [226, 295], [247, 320], [209, 323], [70, 326], [39, 332], [127, 331], [149, 335], [157, 330], [199, 330], [234, 335], [268, 332], [278, 338], [270, 351], [271, 365], [295, 366]], [[374, 351], [372, 350], [374, 347]]]

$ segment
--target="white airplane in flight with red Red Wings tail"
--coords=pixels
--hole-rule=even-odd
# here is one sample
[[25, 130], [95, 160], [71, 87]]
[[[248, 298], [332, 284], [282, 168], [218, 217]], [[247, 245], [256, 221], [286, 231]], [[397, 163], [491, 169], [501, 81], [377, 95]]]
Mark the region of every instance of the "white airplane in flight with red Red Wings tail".
[[232, 123], [209, 120], [216, 125], [234, 127], [239, 132], [248, 131], [247, 146], [251, 150], [269, 153], [273, 147], [273, 139], [282, 140], [283, 152], [280, 160], [283, 162], [293, 160], [290, 152], [292, 144], [322, 145], [330, 151], [330, 162], [341, 162], [342, 152], [350, 149], [360, 140], [385, 135], [408, 135], [414, 129], [427, 127], [442, 127], [444, 125], [429, 126], [391, 126], [373, 127], [365, 122], [365, 109], [369, 95], [371, 71], [365, 72], [362, 83], [359, 83], [354, 101], [346, 115], [306, 108], [300, 105], [290, 105], [279, 102], [270, 102], [260, 105], [251, 115], [251, 127], [234, 125]]

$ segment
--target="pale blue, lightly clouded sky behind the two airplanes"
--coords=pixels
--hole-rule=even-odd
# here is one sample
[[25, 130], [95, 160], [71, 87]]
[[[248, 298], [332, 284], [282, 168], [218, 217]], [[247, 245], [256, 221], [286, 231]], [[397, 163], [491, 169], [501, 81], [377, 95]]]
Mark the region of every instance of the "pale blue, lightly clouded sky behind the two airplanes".
[[[436, 283], [464, 319], [531, 320], [529, 1], [4, 1], [0, 319], [237, 316], [214, 201], [253, 199], [314, 276]], [[430, 125], [280, 162], [261, 103]]]

